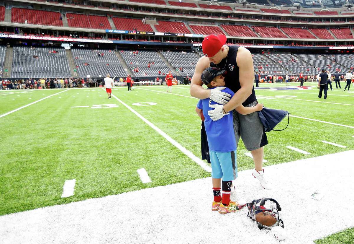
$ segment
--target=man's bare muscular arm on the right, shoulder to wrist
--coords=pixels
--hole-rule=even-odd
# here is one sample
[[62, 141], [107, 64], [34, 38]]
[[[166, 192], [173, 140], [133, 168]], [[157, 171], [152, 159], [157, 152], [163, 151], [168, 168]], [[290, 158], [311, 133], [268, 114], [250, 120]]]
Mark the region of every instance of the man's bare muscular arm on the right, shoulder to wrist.
[[241, 88], [235, 93], [232, 99], [224, 105], [225, 112], [232, 111], [240, 106], [242, 102], [252, 94], [253, 78], [255, 71], [253, 70], [252, 55], [249, 50], [244, 47], [238, 49], [236, 63], [239, 67], [239, 79]]

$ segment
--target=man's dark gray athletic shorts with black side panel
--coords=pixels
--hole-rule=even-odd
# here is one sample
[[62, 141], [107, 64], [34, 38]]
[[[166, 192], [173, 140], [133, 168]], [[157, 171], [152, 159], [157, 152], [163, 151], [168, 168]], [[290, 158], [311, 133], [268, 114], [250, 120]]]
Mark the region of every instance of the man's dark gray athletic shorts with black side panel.
[[[253, 107], [258, 104], [257, 101], [252, 102], [245, 107]], [[240, 135], [247, 150], [252, 151], [268, 144], [267, 135], [264, 127], [259, 120], [258, 112], [249, 115], [241, 115], [236, 110], [232, 111], [234, 120], [234, 132], [236, 145], [239, 143]]]

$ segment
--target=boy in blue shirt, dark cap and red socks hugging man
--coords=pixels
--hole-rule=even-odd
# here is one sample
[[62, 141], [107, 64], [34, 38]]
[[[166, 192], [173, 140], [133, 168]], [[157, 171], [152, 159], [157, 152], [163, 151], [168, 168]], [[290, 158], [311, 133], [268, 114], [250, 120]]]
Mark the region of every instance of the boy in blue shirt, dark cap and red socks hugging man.
[[[216, 67], [206, 68], [202, 75], [202, 82], [208, 89], [215, 87], [224, 87], [225, 81], [223, 74], [225, 70], [219, 70]], [[231, 97], [234, 92], [229, 88], [225, 88], [223, 92], [228, 93]], [[211, 99], [199, 100], [195, 111], [199, 117], [204, 117], [205, 131], [209, 144], [209, 154], [211, 161], [211, 177], [213, 183], [214, 201], [211, 206], [212, 211], [219, 211], [220, 214], [232, 213], [242, 208], [238, 202], [230, 200], [232, 181], [237, 177], [236, 164], [236, 139], [234, 133], [234, 124], [232, 113], [226, 115], [220, 120], [213, 121], [208, 115], [208, 110], [215, 107], [217, 103]], [[244, 107], [240, 105], [236, 107], [236, 111], [241, 114], [250, 114], [255, 111], [261, 111], [263, 104], [257, 104], [254, 107]], [[222, 197], [221, 191], [222, 180]]]

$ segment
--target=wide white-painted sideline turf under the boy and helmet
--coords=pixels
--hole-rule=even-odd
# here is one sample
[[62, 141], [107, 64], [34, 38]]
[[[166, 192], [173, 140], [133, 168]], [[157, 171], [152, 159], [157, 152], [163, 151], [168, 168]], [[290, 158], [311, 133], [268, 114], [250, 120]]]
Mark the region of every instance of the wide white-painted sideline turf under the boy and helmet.
[[[283, 242], [277, 241], [269, 230], [259, 230], [246, 216], [246, 207], [226, 215], [211, 211], [210, 177], [3, 215], [1, 240], [209, 244], [215, 243], [222, 230], [230, 243], [313, 244], [315, 239], [353, 227], [352, 206], [338, 205], [354, 201], [354, 180], [348, 170], [353, 157], [351, 150], [267, 166], [264, 172], [275, 184], [273, 190], [261, 188], [250, 170], [239, 172], [235, 182], [240, 198], [249, 202], [265, 196], [279, 202], [280, 218], [288, 236]], [[310, 198], [316, 189], [324, 193], [319, 201]], [[134, 204], [127, 203], [127, 199], [134, 199]], [[198, 206], [193, 207], [192, 203]], [[219, 228], [225, 223], [228, 228]]]

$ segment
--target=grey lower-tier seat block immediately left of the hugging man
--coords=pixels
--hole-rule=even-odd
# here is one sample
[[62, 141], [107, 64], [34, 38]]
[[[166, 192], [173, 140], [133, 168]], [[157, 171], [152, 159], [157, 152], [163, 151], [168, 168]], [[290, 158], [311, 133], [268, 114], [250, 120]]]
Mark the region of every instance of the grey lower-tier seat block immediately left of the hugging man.
[[[200, 57], [195, 52], [161, 52], [165, 59], [172, 65], [173, 68], [183, 68], [181, 75], [192, 76], [195, 71], [195, 64]], [[191, 64], [193, 63], [193, 64]]]

